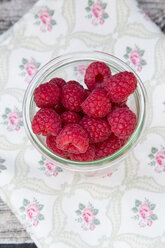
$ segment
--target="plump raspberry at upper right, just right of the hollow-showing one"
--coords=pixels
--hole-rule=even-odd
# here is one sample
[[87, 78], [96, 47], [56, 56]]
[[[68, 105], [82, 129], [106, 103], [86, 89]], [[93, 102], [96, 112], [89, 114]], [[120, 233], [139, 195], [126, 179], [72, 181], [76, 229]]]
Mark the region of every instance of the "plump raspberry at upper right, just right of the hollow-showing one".
[[104, 88], [107, 90], [112, 102], [123, 102], [132, 94], [137, 87], [137, 79], [132, 72], [123, 71], [115, 74], [104, 81]]

